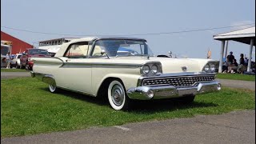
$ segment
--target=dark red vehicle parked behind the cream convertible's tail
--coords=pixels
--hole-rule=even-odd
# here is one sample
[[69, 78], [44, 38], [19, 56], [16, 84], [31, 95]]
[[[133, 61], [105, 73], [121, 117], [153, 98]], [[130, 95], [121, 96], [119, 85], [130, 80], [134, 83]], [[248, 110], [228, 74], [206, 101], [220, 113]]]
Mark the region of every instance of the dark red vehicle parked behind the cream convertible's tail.
[[47, 50], [42, 49], [27, 49], [25, 54], [22, 54], [20, 61], [20, 68], [26, 70], [32, 70], [33, 62], [29, 61], [29, 58], [48, 58], [50, 54], [48, 54]]

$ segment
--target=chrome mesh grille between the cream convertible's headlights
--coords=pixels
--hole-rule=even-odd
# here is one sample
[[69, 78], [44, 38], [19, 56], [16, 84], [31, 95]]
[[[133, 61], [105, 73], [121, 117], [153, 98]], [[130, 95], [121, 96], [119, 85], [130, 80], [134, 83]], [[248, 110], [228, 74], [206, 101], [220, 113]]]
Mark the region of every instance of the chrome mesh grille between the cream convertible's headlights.
[[197, 82], [211, 82], [211, 81], [214, 81], [214, 75], [145, 78], [142, 80], [142, 86], [170, 85], [175, 87], [186, 87], [186, 86], [194, 86]]

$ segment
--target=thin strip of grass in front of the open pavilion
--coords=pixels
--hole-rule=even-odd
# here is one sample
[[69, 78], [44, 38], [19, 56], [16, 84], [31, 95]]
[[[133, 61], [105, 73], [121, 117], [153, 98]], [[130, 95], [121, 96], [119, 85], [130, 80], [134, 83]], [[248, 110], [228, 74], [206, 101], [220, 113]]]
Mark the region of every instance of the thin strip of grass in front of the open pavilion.
[[234, 80], [242, 80], [242, 81], [255, 81], [255, 75], [247, 75], [247, 74], [217, 74], [217, 78], [222, 79], [234, 79]]

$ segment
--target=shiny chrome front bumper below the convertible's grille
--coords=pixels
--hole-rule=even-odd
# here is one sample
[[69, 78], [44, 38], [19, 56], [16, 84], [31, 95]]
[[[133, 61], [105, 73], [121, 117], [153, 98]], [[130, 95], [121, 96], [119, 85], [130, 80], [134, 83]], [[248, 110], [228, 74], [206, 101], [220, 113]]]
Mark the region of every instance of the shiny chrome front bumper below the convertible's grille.
[[176, 88], [174, 86], [138, 86], [127, 90], [131, 99], [178, 98], [190, 94], [205, 94], [221, 90], [219, 82], [199, 82], [197, 86]]

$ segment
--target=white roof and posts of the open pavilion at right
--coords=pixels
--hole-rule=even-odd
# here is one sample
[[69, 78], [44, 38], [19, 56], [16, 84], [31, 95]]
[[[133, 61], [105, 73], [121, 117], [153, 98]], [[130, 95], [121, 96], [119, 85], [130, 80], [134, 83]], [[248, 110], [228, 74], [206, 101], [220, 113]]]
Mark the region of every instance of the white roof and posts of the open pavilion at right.
[[[255, 26], [242, 29], [242, 30], [231, 31], [228, 33], [217, 34], [217, 35], [214, 35], [214, 39], [222, 41], [221, 58], [220, 58], [219, 68], [218, 68], [219, 73], [222, 73], [222, 59], [224, 54], [225, 42], [229, 40], [242, 42], [250, 45], [249, 62], [247, 67], [247, 71], [250, 71], [251, 55], [252, 55], [253, 46], [255, 46]], [[226, 51], [227, 51], [227, 46], [226, 46]]]

